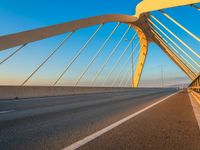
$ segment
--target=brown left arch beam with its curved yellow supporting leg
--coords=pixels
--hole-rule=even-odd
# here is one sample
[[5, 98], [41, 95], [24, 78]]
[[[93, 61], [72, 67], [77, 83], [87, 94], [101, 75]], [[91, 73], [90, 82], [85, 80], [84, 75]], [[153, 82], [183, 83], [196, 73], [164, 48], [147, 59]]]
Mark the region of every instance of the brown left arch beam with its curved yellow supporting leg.
[[[35, 30], [29, 30], [25, 32], [16, 33], [16, 34], [1, 36], [0, 37], [0, 43], [1, 43], [0, 51], [7, 48], [11, 48], [11, 47], [31, 43], [34, 41], [42, 40], [45, 38], [49, 38], [52, 36], [56, 36], [59, 34], [63, 34], [66, 32], [73, 32], [75, 30], [90, 27], [93, 25], [104, 24], [108, 22], [121, 22], [121, 23], [128, 24], [138, 34], [139, 41], [140, 41], [140, 54], [139, 54], [139, 59], [136, 65], [136, 70], [134, 72], [134, 76], [132, 77], [133, 78], [132, 86], [138, 87], [143, 66], [145, 64], [149, 40], [144, 30], [138, 26], [138, 19], [134, 16], [118, 15], [118, 14], [102, 15], [102, 16], [96, 16], [96, 17], [91, 17], [87, 19], [81, 19], [77, 21], [57, 24], [53, 26], [48, 26], [44, 28], [39, 28]], [[176, 60], [173, 60], [173, 61], [176, 61]]]

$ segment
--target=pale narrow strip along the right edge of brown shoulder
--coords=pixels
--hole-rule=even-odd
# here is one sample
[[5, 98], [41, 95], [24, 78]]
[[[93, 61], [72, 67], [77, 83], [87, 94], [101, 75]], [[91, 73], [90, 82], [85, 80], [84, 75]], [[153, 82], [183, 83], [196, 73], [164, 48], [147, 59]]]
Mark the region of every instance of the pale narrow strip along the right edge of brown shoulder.
[[199, 130], [200, 130], [200, 105], [197, 103], [197, 101], [191, 94], [189, 94], [189, 97], [190, 97], [190, 101], [193, 107], [194, 115], [199, 125]]

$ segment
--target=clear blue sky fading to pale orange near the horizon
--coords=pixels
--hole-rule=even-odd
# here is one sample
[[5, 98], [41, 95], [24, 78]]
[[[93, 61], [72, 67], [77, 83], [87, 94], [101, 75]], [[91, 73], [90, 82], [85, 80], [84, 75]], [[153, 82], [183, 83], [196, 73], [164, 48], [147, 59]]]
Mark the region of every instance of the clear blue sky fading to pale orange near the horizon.
[[[140, 0], [0, 0], [0, 35], [12, 34], [20, 31], [35, 29], [39, 27], [49, 26], [53, 24], [68, 22], [90, 16], [102, 14], [129, 14], [135, 13], [135, 6]], [[189, 6], [167, 9], [166, 12], [175, 18], [178, 22], [183, 24], [191, 32], [198, 37], [200, 36], [199, 26], [200, 18], [199, 12]], [[159, 12], [153, 13], [156, 17], [167, 24], [178, 36], [188, 43], [198, 53], [200, 52], [200, 44], [185, 34], [176, 25], [163, 17]], [[98, 33], [97, 39], [89, 45], [86, 52], [81, 56], [79, 61], [73, 65], [73, 69], [69, 70], [62, 80], [60, 85], [71, 85], [76, 81], [79, 74], [84, 70], [84, 67], [89, 63], [91, 55], [95, 54], [94, 49], [98, 49], [101, 43], [105, 40], [108, 34], [112, 31], [116, 24], [110, 23], [103, 27]], [[70, 61], [79, 50], [81, 45], [91, 36], [98, 26], [82, 29], [73, 35], [72, 39], [53, 57], [39, 72], [34, 75], [29, 84], [45, 84], [55, 81], [63, 68]], [[112, 44], [107, 46], [107, 51], [102, 54], [98, 62], [89, 70], [86, 77], [83, 78], [82, 84], [88, 84], [88, 78], [92, 79], [95, 71], [103, 63], [105, 57], [112, 50], [114, 44], [120, 39], [121, 35], [127, 28], [126, 25], [121, 25], [116, 35], [112, 38]], [[134, 31], [130, 31], [126, 38], [130, 39]], [[0, 66], [0, 82], [1, 84], [20, 84], [31, 71], [33, 71], [39, 63], [52, 51], [52, 49], [66, 36], [66, 34], [56, 36], [47, 40], [34, 42], [20, 51], [11, 60]], [[175, 39], [173, 39], [175, 40]], [[136, 41], [134, 41], [136, 43]], [[134, 44], [135, 44], [134, 43]], [[98, 78], [96, 84], [102, 82], [106, 71], [112, 68], [114, 60], [116, 60], [123, 47], [127, 44], [124, 41], [116, 55], [109, 61], [108, 66]], [[184, 47], [183, 47], [184, 48]], [[9, 55], [14, 48], [0, 53], [0, 60], [3, 60]], [[185, 49], [187, 51], [187, 49]], [[131, 52], [131, 48], [129, 50]], [[189, 51], [187, 51], [189, 53]], [[128, 57], [127, 53], [123, 58], [125, 61]], [[136, 54], [136, 53], [135, 53]], [[198, 63], [198, 58], [189, 53]], [[37, 60], [37, 61], [36, 61]], [[155, 44], [150, 44], [146, 64], [143, 70], [140, 86], [160, 86], [161, 85], [161, 66], [163, 66], [165, 85], [174, 85], [188, 83], [188, 77], [163, 53], [163, 51]], [[127, 65], [131, 67], [131, 64]], [[117, 70], [114, 72], [108, 83], [112, 82]], [[128, 74], [128, 76], [131, 75]], [[127, 77], [129, 78], [129, 77]]]

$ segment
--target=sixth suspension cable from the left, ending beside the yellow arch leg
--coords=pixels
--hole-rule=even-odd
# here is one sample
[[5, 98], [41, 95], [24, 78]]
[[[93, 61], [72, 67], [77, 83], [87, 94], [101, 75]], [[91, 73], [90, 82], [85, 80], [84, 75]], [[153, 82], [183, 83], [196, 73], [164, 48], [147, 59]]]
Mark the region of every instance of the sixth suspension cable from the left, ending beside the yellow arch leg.
[[116, 63], [114, 64], [112, 70], [109, 72], [109, 74], [106, 76], [105, 80], [103, 81], [103, 85], [105, 85], [105, 82], [109, 79], [109, 77], [111, 76], [111, 74], [113, 73], [113, 71], [116, 69], [117, 65], [119, 64], [119, 62], [121, 61], [122, 57], [124, 56], [124, 54], [127, 52], [128, 48], [130, 47], [130, 45], [132, 44], [133, 40], [135, 39], [137, 33], [135, 33], [133, 35], [133, 37], [131, 38], [130, 42], [128, 43], [128, 45], [126, 46], [126, 48], [124, 49], [123, 53], [121, 54], [121, 56], [118, 58], [118, 60], [116, 61]]

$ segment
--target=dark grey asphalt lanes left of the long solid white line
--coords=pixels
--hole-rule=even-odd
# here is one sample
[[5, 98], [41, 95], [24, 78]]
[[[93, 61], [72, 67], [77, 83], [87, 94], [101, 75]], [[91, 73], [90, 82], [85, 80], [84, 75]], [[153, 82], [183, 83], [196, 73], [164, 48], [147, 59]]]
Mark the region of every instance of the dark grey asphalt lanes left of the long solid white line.
[[176, 92], [137, 89], [0, 101], [0, 149], [61, 149]]

